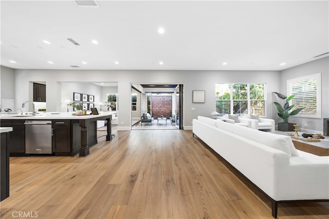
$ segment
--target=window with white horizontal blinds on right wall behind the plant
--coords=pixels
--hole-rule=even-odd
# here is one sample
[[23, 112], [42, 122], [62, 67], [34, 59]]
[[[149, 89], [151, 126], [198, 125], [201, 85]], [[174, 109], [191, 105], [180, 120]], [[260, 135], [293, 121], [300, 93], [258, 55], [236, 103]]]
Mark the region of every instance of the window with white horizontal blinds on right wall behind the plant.
[[288, 96], [297, 93], [293, 110], [306, 107], [297, 116], [321, 118], [321, 73], [287, 80], [287, 91]]

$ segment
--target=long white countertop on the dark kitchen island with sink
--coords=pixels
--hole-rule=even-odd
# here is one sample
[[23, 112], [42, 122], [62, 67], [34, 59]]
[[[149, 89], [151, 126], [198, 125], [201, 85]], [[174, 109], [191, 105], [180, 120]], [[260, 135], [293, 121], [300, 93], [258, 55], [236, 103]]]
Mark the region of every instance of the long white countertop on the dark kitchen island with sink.
[[1, 114], [0, 119], [91, 119], [97, 118], [102, 116], [109, 116], [117, 114], [117, 111], [114, 112], [101, 112], [99, 115], [83, 115], [83, 116], [76, 116], [72, 115], [73, 113], [59, 113], [59, 112], [41, 112], [38, 113], [36, 116], [32, 116], [30, 114], [25, 115], [24, 112], [23, 116], [21, 113], [17, 114]]

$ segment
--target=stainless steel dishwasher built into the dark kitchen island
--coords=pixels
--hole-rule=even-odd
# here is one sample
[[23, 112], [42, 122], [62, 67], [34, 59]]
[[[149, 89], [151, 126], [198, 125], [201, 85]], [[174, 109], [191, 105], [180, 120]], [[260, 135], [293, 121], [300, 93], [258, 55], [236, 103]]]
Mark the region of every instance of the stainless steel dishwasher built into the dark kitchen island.
[[51, 121], [25, 120], [25, 153], [51, 154]]

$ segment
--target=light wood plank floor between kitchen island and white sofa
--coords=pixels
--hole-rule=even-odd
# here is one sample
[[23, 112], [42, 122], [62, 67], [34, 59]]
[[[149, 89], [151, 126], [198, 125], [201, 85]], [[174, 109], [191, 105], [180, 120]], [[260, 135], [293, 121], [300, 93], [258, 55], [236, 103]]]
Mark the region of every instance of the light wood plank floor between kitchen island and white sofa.
[[[191, 131], [114, 134], [87, 157], [11, 157], [1, 218], [272, 218]], [[328, 216], [329, 203], [279, 204], [278, 218]]]

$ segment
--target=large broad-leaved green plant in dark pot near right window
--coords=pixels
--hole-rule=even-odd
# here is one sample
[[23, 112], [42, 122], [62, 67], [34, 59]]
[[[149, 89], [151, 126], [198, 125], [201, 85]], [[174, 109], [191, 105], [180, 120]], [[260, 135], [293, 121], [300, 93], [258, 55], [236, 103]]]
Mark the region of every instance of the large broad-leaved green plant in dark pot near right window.
[[305, 107], [297, 108], [297, 109], [291, 111], [291, 109], [295, 106], [295, 104], [289, 106], [289, 101], [292, 100], [297, 95], [297, 93], [290, 95], [289, 97], [287, 97], [283, 94], [279, 94], [277, 92], [273, 92], [273, 93], [275, 93], [280, 99], [284, 100], [284, 102], [285, 102], [283, 106], [278, 102], [273, 102], [277, 106], [278, 116], [283, 119], [283, 122], [278, 122], [278, 130], [283, 131], [283, 132], [294, 131], [294, 123], [289, 123], [288, 118], [289, 118], [289, 116], [297, 115]]

